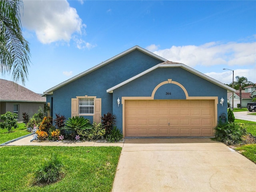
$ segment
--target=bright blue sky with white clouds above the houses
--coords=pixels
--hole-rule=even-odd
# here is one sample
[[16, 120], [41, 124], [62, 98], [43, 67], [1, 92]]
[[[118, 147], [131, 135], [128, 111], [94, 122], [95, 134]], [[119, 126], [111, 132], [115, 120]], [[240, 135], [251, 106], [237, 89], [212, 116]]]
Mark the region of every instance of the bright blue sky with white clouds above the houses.
[[[256, 83], [256, 1], [24, 0], [31, 65], [44, 91], [138, 45], [222, 83]], [[11, 80], [10, 76], [1, 78]]]

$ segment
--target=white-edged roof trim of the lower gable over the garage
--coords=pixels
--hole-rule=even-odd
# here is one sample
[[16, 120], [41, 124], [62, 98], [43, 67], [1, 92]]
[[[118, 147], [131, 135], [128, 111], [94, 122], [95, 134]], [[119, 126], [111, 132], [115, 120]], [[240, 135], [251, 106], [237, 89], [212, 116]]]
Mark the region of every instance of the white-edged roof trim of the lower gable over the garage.
[[208, 81], [212, 82], [213, 84], [216, 84], [216, 85], [218, 85], [218, 86], [220, 86], [220, 87], [222, 87], [222, 88], [224, 88], [224, 89], [226, 89], [230, 92], [235, 92], [235, 89], [231, 88], [230, 86], [227, 86], [227, 85], [225, 85], [225, 84], [223, 84], [223, 83], [221, 83], [221, 82], [219, 82], [219, 81], [217, 81], [217, 80], [215, 80], [215, 79], [213, 79], [213, 78], [211, 78], [211, 77], [209, 77], [205, 74], [202, 74], [201, 72], [198, 72], [197, 70], [194, 70], [193, 68], [191, 68], [189, 66], [186, 66], [183, 63], [177, 63], [177, 62], [172, 62], [172, 61], [166, 61], [166, 62], [162, 62], [160, 64], [157, 64], [157, 65], [153, 66], [152, 68], [149, 68], [148, 70], [146, 70], [146, 71], [144, 71], [144, 72], [142, 72], [142, 73], [140, 73], [140, 74], [138, 74], [138, 75], [136, 75], [136, 76], [134, 76], [134, 77], [132, 77], [132, 78], [130, 78], [130, 79], [114, 86], [114, 87], [112, 87], [112, 88], [109, 88], [107, 90], [107, 92], [112, 93], [113, 90], [115, 90], [116, 88], [119, 88], [120, 86], [123, 86], [123, 85], [133, 81], [134, 79], [139, 78], [140, 76], [143, 76], [144, 74], [147, 74], [147, 73], [155, 70], [156, 68], [163, 68], [163, 67], [180, 67], [180, 68], [183, 68], [184, 70], [187, 70], [187, 71], [189, 71], [189, 72], [191, 72], [191, 73], [193, 73], [193, 74], [195, 74], [195, 75], [197, 75], [197, 76], [199, 76], [199, 77], [201, 77], [205, 80], [208, 80]]

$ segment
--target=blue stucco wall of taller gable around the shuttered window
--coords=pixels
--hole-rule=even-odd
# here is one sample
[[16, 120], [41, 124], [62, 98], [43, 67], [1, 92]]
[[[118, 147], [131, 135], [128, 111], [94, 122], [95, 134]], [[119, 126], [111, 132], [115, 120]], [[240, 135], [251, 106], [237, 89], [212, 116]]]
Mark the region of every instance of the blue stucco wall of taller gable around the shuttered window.
[[[71, 116], [71, 98], [84, 95], [97, 96], [97, 98], [102, 98], [102, 115], [107, 112], [112, 113], [112, 94], [107, 93], [106, 90], [160, 62], [162, 61], [139, 50], [134, 50], [55, 90], [52, 96], [46, 97], [46, 102], [50, 102], [50, 98], [53, 97], [53, 115], [57, 113], [69, 118]], [[91, 116], [85, 117], [92, 118]]]

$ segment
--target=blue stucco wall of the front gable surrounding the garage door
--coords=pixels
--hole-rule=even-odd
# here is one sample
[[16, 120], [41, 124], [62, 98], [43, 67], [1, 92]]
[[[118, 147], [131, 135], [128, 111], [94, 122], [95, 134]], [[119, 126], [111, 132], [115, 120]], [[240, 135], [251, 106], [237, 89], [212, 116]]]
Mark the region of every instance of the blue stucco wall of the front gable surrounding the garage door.
[[[227, 90], [217, 86], [195, 74], [192, 74], [182, 68], [157, 68], [156, 70], [141, 76], [117, 88], [113, 91], [113, 114], [117, 116], [116, 126], [122, 130], [122, 104], [117, 105], [117, 98], [122, 100], [124, 96], [151, 96], [154, 88], [161, 82], [172, 79], [184, 86], [188, 92], [188, 96], [218, 96], [224, 98], [223, 106], [217, 104], [217, 115], [227, 114]], [[166, 95], [166, 92], [171, 94]], [[184, 91], [175, 84], [165, 84], [158, 88], [154, 99], [186, 99]]]

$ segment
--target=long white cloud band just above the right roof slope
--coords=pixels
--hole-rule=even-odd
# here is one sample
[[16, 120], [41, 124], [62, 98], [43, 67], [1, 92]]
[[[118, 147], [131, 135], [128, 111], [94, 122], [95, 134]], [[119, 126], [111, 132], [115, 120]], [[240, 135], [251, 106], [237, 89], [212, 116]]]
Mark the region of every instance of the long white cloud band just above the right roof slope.
[[[149, 50], [158, 48], [150, 45]], [[196, 65], [214, 66], [242, 66], [255, 65], [256, 63], [256, 42], [237, 43], [209, 42], [200, 46], [172, 46], [164, 50], [156, 50], [155, 54], [170, 61], [180, 62], [190, 67]]]

